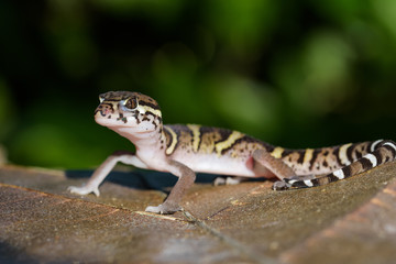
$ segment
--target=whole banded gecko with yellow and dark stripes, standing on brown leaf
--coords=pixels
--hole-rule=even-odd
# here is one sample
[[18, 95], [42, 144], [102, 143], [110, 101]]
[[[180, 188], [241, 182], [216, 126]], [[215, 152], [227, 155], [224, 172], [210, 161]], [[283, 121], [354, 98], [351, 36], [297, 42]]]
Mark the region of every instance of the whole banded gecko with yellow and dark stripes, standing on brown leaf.
[[[139, 168], [168, 172], [178, 177], [166, 200], [145, 210], [174, 213], [194, 184], [196, 172], [242, 177], [276, 177], [273, 189], [307, 188], [344, 179], [395, 160], [396, 144], [377, 140], [356, 144], [306, 150], [273, 146], [238, 131], [197, 124], [164, 125], [158, 103], [131, 91], [99, 96], [95, 111], [98, 124], [127, 138], [135, 153], [110, 155], [82, 187], [70, 186], [78, 195], [94, 193], [119, 162]], [[324, 175], [324, 176], [315, 176]]]

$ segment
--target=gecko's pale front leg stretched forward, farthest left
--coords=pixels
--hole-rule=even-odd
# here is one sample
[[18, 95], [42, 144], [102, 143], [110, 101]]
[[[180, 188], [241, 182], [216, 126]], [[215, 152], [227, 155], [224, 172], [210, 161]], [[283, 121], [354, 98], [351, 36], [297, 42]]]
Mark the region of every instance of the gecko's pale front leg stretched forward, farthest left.
[[72, 194], [77, 195], [88, 195], [94, 193], [96, 196], [99, 196], [99, 185], [105, 180], [109, 175], [111, 169], [116, 166], [117, 163], [123, 163], [128, 165], [133, 165], [140, 168], [146, 168], [146, 165], [139, 160], [132, 152], [118, 151], [110, 155], [92, 174], [88, 183], [81, 187], [70, 186], [67, 189]]

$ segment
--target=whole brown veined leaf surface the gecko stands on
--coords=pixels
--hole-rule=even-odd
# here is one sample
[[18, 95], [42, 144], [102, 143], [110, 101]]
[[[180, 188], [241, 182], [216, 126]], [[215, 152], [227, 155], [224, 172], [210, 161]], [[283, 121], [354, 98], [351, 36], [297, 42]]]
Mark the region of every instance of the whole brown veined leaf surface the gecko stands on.
[[156, 216], [176, 182], [116, 172], [101, 196], [68, 194], [91, 172], [0, 169], [0, 263], [392, 263], [396, 163], [328, 186], [273, 191], [272, 183], [215, 187], [200, 175], [183, 212]]

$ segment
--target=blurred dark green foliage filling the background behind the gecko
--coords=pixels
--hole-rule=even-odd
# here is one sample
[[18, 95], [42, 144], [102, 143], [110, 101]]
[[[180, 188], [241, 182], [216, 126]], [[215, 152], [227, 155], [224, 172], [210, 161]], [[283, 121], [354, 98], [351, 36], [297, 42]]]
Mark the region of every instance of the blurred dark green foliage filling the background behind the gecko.
[[0, 143], [10, 162], [94, 167], [132, 144], [98, 95], [155, 98], [166, 123], [288, 147], [396, 139], [396, 1], [0, 2]]

